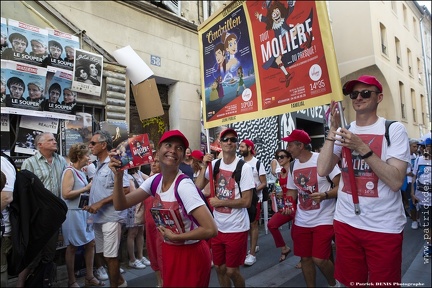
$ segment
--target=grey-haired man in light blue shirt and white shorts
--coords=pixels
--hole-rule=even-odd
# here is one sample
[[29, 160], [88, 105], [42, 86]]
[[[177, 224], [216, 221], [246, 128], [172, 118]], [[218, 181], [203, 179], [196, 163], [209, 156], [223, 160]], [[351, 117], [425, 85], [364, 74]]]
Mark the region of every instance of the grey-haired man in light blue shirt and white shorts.
[[[113, 148], [111, 135], [98, 130], [90, 140], [91, 153], [97, 157], [96, 172], [90, 190], [89, 206], [84, 210], [93, 214], [96, 257], [102, 256], [108, 267], [110, 287], [127, 287], [120, 274], [118, 251], [121, 240], [121, 223], [126, 219], [126, 210], [116, 211], [113, 205], [114, 175], [108, 167], [109, 151]], [[129, 193], [128, 174], [123, 175], [123, 192]]]

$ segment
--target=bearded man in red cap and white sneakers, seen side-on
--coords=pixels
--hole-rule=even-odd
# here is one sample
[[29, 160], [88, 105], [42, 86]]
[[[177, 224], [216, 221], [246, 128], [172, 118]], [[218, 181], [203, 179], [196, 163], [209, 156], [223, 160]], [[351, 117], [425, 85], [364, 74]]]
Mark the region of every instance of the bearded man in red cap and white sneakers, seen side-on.
[[[261, 207], [262, 207], [262, 189], [267, 186], [267, 173], [265, 171], [264, 165], [259, 162], [257, 171], [257, 163], [258, 159], [254, 157], [256, 154], [255, 152], [255, 145], [254, 143], [249, 139], [244, 139], [239, 146], [240, 155], [243, 157], [243, 160], [246, 161], [251, 167], [252, 167], [252, 173], [255, 181], [255, 188], [257, 190], [257, 196], [258, 196], [258, 203], [256, 206], [256, 215], [255, 219], [251, 222], [250, 229], [249, 229], [249, 236], [250, 236], [250, 245], [249, 245], [249, 253], [246, 256], [245, 259], [245, 265], [252, 266], [256, 262], [256, 252], [259, 250], [258, 244], [258, 222], [261, 216]], [[249, 219], [251, 220], [251, 219]]]

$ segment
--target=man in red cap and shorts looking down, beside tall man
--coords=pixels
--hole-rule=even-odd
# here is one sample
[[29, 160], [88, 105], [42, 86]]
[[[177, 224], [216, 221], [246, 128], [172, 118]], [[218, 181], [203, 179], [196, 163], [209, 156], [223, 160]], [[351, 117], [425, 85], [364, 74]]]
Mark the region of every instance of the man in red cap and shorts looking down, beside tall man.
[[[287, 150], [295, 158], [288, 177], [287, 195], [297, 199], [291, 209], [282, 214], [295, 213], [292, 227], [294, 254], [301, 258], [301, 268], [307, 287], [316, 286], [315, 265], [321, 270], [330, 287], [337, 286], [331, 261], [334, 239], [333, 216], [335, 210], [340, 170], [337, 165], [326, 176], [317, 174], [318, 153], [311, 152], [311, 138], [304, 130], [295, 129], [288, 137]], [[332, 187], [332, 184], [334, 185]]]

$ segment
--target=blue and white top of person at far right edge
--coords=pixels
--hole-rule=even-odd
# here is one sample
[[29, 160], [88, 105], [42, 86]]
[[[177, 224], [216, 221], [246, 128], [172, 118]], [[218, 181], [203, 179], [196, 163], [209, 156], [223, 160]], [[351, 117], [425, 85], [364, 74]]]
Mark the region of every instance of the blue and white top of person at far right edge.
[[415, 196], [419, 199], [420, 205], [431, 206], [431, 160], [426, 160], [424, 156], [420, 156], [414, 166], [413, 173], [416, 175], [416, 191]]

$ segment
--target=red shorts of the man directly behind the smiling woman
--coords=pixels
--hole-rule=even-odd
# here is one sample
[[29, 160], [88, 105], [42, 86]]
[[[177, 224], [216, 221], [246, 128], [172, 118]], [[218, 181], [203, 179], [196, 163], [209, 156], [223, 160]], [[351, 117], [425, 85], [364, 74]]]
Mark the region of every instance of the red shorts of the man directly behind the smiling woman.
[[216, 237], [211, 241], [214, 265], [225, 264], [229, 268], [242, 266], [246, 258], [248, 232], [223, 233], [218, 231]]

